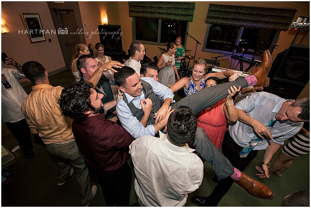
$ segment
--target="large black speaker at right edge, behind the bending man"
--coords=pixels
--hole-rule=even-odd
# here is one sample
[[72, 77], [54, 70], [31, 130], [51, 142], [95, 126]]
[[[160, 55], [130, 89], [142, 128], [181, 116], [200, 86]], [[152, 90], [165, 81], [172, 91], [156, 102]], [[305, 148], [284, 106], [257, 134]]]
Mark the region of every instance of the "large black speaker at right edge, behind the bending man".
[[309, 46], [292, 44], [279, 53], [268, 75], [270, 85], [267, 92], [284, 99], [296, 99], [309, 81], [309, 50]]

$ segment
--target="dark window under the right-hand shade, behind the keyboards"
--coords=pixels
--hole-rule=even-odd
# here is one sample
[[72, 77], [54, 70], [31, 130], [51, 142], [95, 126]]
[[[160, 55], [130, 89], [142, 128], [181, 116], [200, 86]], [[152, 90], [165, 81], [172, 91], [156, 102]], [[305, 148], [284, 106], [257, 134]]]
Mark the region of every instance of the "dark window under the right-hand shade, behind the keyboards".
[[277, 42], [279, 34], [278, 30], [208, 24], [202, 51], [226, 54], [239, 46], [272, 52], [272, 44]]

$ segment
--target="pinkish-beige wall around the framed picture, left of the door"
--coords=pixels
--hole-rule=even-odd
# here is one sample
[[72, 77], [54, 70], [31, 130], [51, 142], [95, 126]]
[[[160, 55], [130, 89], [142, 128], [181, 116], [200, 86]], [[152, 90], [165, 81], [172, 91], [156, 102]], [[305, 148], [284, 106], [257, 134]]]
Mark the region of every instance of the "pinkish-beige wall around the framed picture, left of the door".
[[[48, 72], [65, 67], [65, 61], [56, 34], [45, 34], [46, 41], [30, 43], [20, 13], [39, 13], [44, 30], [55, 30], [47, 2], [1, 2], [1, 15], [10, 33], [1, 34], [1, 52], [20, 64], [27, 61], [40, 62]], [[49, 43], [48, 39], [52, 42]], [[1, 62], [1, 67], [14, 68]], [[21, 80], [21, 81], [24, 81]]]

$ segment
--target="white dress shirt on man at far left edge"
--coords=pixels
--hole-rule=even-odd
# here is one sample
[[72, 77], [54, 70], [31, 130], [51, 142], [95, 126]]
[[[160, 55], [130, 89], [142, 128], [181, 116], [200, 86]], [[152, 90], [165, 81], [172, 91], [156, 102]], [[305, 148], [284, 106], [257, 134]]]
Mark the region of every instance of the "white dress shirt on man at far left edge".
[[19, 80], [25, 78], [25, 75], [11, 68], [1, 68], [1, 73], [5, 74], [7, 81], [12, 86], [12, 88], [5, 89], [1, 83], [1, 118], [3, 122], [18, 122], [24, 119], [24, 115], [21, 113], [21, 104], [28, 96], [19, 83]]

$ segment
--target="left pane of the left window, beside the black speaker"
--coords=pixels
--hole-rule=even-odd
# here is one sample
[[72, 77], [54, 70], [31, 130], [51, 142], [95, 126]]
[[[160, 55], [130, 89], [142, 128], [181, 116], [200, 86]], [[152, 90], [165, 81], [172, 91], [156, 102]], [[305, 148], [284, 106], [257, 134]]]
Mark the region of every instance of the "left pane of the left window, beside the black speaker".
[[159, 19], [136, 17], [136, 39], [158, 42]]

